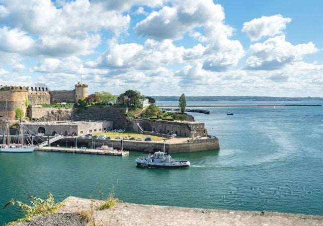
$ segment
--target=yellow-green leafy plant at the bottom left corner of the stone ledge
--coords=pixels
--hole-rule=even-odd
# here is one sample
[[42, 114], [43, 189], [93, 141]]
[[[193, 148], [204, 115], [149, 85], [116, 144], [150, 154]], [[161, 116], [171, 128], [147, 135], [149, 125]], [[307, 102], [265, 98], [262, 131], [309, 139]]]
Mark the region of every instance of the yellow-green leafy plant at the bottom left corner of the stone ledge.
[[31, 199], [30, 206], [21, 201], [16, 201], [13, 199], [11, 199], [7, 204], [4, 205], [3, 208], [6, 208], [9, 205], [16, 205], [19, 207], [19, 211], [25, 214], [24, 218], [12, 222], [12, 225], [22, 221], [30, 221], [32, 217], [37, 215], [48, 215], [55, 213], [57, 209], [63, 205], [63, 203], [55, 203], [54, 197], [50, 192], [47, 193], [46, 200], [34, 196], [30, 196], [28, 198]]

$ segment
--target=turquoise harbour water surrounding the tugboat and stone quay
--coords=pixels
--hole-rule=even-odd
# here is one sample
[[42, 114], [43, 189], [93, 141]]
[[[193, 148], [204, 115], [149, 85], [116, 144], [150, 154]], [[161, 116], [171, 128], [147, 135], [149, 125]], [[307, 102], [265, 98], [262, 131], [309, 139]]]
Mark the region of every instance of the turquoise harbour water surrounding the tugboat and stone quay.
[[[250, 104], [233, 102], [240, 103]], [[231, 107], [233, 116], [208, 109], [210, 115], [191, 114], [221, 149], [172, 154], [190, 160], [188, 168], [138, 168], [140, 152], [0, 153], [0, 223], [21, 217], [16, 208], [2, 210], [10, 198], [28, 202], [48, 191], [57, 201], [100, 198], [113, 186], [120, 199], [139, 204], [323, 215], [323, 107]]]

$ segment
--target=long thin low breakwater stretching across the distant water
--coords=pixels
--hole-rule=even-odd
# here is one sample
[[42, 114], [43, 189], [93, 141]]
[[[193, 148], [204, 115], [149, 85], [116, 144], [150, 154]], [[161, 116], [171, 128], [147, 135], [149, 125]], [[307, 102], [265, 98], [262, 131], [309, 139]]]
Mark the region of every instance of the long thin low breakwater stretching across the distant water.
[[[322, 107], [321, 104], [201, 104], [186, 107]], [[159, 108], [178, 108], [174, 105], [157, 105]]]

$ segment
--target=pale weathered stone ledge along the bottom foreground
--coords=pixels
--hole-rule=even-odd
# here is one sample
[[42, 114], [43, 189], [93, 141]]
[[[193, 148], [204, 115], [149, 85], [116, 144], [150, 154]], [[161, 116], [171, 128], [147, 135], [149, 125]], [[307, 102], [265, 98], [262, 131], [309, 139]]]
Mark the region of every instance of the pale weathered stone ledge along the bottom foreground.
[[[77, 197], [69, 197], [65, 202], [66, 205], [59, 209], [59, 213], [63, 215], [78, 213], [80, 211], [91, 211], [100, 204], [98, 200], [91, 201]], [[129, 203], [118, 203], [115, 208], [110, 210], [94, 211], [93, 218], [96, 224], [102, 226], [323, 226], [323, 216], [276, 212], [226, 211]], [[62, 221], [62, 218], [59, 221]], [[69, 224], [60, 222], [58, 225]], [[79, 226], [82, 225], [83, 223], [80, 223]], [[55, 225], [43, 224], [43, 226]]]

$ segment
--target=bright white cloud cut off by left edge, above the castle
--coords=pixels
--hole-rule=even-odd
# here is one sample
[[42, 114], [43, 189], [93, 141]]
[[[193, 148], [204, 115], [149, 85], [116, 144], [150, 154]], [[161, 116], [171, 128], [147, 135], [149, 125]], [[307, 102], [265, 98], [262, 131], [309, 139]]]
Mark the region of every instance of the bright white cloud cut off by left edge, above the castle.
[[0, 28], [0, 50], [5, 52], [24, 52], [30, 49], [34, 40], [25, 32], [15, 28]]

